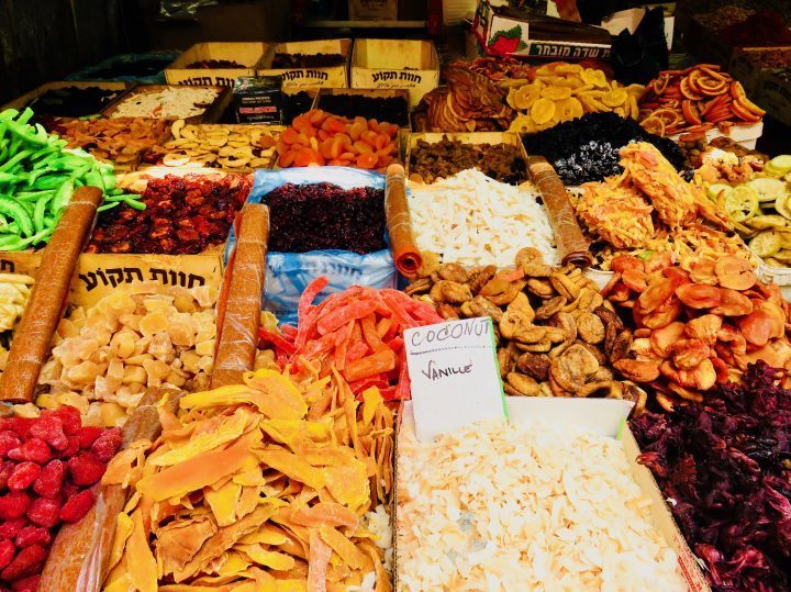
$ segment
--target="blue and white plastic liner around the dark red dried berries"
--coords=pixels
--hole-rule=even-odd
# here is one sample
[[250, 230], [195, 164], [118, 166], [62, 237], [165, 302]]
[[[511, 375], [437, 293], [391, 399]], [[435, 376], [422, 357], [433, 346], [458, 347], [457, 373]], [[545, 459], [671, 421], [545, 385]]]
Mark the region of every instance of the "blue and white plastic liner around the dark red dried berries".
[[[385, 176], [379, 172], [348, 167], [305, 167], [281, 170], [258, 170], [248, 201], [260, 203], [263, 198], [286, 183], [334, 183], [342, 189], [374, 187], [385, 190]], [[231, 233], [225, 248], [225, 260], [235, 243]], [[307, 253], [274, 253], [267, 255], [264, 309], [281, 323], [297, 324], [299, 299], [305, 287], [319, 276], [330, 279], [316, 302], [355, 284], [371, 288], [396, 288], [398, 272], [390, 249], [368, 255], [348, 250], [310, 250]]]

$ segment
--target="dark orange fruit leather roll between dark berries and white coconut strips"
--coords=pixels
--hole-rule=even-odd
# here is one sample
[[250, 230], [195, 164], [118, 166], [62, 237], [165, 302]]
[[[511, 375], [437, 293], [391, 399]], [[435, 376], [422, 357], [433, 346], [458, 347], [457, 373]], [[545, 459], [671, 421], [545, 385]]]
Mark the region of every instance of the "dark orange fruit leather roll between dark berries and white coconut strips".
[[385, 186], [385, 216], [393, 263], [408, 278], [414, 278], [423, 266], [412, 232], [412, 219], [406, 203], [406, 185], [401, 165], [390, 165]]

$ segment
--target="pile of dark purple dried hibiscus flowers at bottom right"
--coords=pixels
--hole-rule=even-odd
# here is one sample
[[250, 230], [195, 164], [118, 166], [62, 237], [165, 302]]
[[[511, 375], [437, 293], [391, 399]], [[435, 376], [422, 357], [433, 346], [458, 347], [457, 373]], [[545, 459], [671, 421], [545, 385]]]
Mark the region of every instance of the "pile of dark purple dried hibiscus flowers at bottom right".
[[705, 404], [632, 422], [712, 590], [789, 590], [791, 392], [762, 361]]

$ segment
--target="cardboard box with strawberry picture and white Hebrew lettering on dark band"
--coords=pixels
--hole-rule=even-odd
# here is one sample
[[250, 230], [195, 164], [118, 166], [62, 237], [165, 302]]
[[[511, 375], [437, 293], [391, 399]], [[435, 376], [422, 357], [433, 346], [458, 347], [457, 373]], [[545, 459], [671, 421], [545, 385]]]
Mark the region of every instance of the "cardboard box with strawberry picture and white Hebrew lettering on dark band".
[[490, 55], [538, 57], [553, 62], [575, 62], [610, 57], [611, 42], [583, 43], [539, 40], [531, 37], [530, 23], [506, 15], [506, 9], [493, 7], [491, 0], [480, 0], [472, 31]]

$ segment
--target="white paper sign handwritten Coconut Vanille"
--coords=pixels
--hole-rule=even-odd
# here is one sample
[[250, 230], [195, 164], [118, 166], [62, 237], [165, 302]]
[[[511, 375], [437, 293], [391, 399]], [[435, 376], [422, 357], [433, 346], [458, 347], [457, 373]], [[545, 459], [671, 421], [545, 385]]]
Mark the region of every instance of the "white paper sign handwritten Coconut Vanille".
[[404, 331], [417, 439], [508, 417], [488, 316]]

